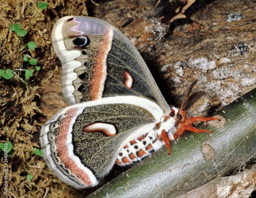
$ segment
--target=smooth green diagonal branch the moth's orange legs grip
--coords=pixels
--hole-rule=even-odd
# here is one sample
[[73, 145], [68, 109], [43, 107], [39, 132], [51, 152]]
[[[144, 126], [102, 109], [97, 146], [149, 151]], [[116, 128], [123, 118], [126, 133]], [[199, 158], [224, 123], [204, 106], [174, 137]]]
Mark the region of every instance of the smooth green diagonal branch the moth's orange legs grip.
[[175, 197], [243, 165], [256, 154], [255, 96], [253, 89], [218, 111], [212, 135], [187, 134], [170, 156], [163, 147], [88, 197]]

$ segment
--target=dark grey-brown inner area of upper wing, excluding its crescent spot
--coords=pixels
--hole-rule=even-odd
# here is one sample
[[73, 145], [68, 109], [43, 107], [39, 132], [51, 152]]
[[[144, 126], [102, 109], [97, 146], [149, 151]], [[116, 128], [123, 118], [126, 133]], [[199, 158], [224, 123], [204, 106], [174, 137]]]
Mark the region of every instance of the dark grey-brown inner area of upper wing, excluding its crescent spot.
[[[121, 37], [124, 36], [114, 31], [112, 47], [106, 59], [107, 77], [102, 96], [136, 95], [149, 98], [158, 104], [163, 103], [162, 94], [144, 60], [130, 41], [128, 42], [126, 37]], [[130, 88], [124, 84], [125, 72], [133, 80]]]

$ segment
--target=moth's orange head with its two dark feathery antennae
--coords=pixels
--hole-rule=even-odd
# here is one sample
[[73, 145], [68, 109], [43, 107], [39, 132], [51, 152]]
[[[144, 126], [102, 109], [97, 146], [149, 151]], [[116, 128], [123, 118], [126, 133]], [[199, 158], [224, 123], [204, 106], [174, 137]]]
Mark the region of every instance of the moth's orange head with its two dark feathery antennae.
[[178, 110], [177, 122], [184, 123], [187, 119], [186, 111], [205, 94], [204, 91], [197, 91], [191, 94], [191, 91], [196, 83], [197, 80], [193, 81], [184, 95], [181, 107]]

